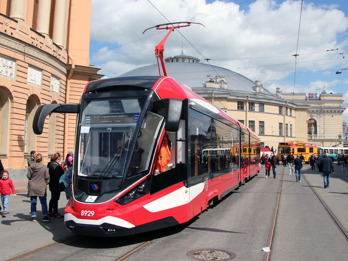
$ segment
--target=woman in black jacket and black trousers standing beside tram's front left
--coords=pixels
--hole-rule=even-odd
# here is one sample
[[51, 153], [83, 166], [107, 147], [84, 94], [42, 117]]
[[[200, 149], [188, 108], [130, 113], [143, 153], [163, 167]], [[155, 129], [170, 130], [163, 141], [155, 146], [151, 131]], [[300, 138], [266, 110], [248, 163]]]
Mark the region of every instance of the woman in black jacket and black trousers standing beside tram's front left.
[[54, 153], [51, 162], [47, 164], [49, 174], [49, 191], [51, 191], [51, 199], [48, 205], [48, 216], [53, 216], [54, 219], [63, 218], [64, 215], [58, 213], [58, 200], [61, 196], [59, 189], [59, 179], [64, 174], [63, 168], [59, 164], [61, 160], [60, 153]]

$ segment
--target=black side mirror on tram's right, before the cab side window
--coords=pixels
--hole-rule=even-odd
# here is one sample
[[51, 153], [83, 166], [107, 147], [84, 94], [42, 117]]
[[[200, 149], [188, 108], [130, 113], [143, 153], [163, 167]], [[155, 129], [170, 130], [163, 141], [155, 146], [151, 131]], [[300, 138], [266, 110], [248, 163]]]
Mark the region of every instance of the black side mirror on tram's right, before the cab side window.
[[182, 100], [167, 98], [152, 103], [152, 111], [164, 115], [167, 132], [177, 132], [180, 125]]

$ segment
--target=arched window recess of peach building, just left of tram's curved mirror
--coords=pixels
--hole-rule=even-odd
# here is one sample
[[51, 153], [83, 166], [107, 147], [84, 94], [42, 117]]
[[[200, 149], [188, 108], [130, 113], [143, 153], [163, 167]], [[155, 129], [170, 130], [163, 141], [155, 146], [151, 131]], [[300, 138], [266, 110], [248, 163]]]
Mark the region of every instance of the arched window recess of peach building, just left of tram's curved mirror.
[[30, 96], [26, 102], [25, 124], [24, 124], [24, 153], [32, 150], [36, 151], [36, 135], [34, 134], [33, 119], [37, 109], [37, 103], [34, 96]]

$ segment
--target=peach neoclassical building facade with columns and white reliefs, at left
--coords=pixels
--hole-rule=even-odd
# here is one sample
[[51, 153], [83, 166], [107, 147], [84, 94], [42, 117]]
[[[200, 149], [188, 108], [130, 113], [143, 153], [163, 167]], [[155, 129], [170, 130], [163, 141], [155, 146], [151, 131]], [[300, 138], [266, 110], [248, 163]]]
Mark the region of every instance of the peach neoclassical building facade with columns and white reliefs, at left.
[[52, 113], [40, 136], [32, 122], [38, 106], [79, 103], [85, 84], [102, 77], [89, 65], [90, 13], [91, 0], [0, 1], [0, 159], [5, 168], [24, 169], [32, 150], [44, 161], [54, 152], [73, 150], [76, 115]]

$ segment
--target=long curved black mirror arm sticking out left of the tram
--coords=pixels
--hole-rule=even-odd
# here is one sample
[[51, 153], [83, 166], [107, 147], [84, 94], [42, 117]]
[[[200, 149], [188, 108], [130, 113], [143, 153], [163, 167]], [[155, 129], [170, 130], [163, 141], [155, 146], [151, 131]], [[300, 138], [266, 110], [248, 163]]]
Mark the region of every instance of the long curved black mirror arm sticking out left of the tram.
[[41, 105], [35, 112], [33, 119], [33, 131], [36, 135], [42, 134], [44, 128], [45, 118], [51, 112], [57, 113], [79, 113], [80, 104], [44, 104]]

